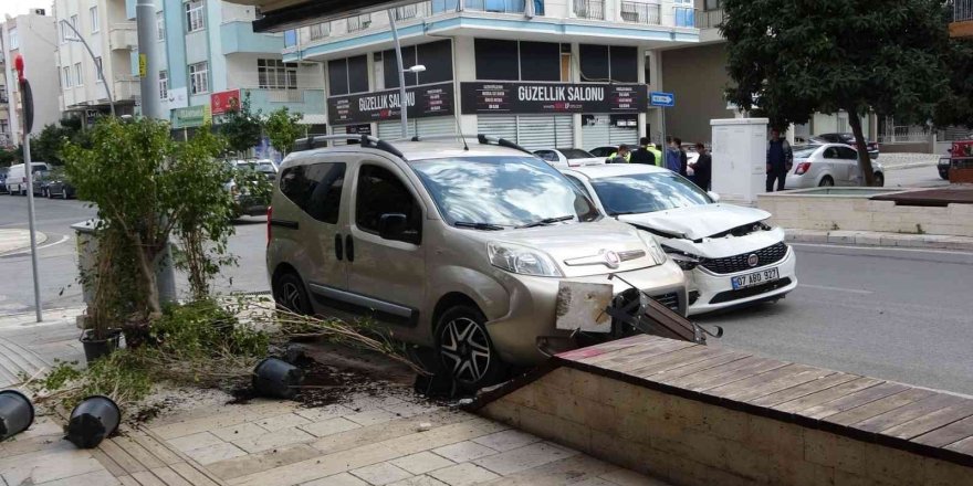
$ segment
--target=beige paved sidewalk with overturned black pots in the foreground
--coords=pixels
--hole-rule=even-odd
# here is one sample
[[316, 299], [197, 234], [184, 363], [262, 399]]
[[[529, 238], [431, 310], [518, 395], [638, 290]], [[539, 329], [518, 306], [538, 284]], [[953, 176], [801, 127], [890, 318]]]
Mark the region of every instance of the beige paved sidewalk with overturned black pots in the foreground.
[[[77, 310], [42, 325], [32, 316], [0, 318], [0, 342], [14, 349], [0, 349], [0, 359], [14, 358], [4, 368], [32, 373], [55, 358], [77, 359]], [[321, 406], [164, 390], [155, 398], [169, 406], [160, 416], [126, 425], [92, 451], [63, 440], [63, 419], [39, 416], [0, 444], [0, 486], [665, 484], [427, 401], [407, 385], [353, 387]]]

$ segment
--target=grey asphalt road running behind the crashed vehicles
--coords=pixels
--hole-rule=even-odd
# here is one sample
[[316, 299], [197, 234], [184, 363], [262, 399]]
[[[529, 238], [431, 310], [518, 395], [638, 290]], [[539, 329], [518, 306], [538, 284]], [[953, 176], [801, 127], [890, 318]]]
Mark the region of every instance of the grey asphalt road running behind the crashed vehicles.
[[[43, 199], [36, 208], [49, 235], [39, 252], [44, 307], [81, 305], [69, 225], [95, 211]], [[2, 228], [27, 228], [25, 198], [0, 196]], [[223, 272], [219, 290], [269, 289], [264, 239], [262, 218], [237, 225], [230, 250], [239, 263]], [[973, 254], [795, 247], [801, 286], [777, 304], [699, 318], [725, 329], [712, 346], [973, 394]], [[0, 255], [0, 315], [32, 310], [30, 272], [28, 254]]]

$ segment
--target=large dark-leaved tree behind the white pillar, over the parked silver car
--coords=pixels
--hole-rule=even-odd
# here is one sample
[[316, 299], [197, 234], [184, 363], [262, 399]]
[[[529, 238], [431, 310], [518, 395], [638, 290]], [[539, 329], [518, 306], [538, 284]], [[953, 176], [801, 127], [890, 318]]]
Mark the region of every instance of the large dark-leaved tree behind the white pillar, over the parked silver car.
[[861, 116], [928, 122], [948, 93], [942, 0], [724, 0], [728, 101], [754, 101], [772, 126], [845, 110], [873, 183]]

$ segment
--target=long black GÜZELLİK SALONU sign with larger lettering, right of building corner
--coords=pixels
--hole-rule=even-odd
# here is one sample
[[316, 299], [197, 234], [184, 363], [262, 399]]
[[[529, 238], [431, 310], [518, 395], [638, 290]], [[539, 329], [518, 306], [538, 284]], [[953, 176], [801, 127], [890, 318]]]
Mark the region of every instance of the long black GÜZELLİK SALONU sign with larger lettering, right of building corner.
[[460, 85], [463, 115], [491, 113], [640, 113], [644, 84], [475, 82]]

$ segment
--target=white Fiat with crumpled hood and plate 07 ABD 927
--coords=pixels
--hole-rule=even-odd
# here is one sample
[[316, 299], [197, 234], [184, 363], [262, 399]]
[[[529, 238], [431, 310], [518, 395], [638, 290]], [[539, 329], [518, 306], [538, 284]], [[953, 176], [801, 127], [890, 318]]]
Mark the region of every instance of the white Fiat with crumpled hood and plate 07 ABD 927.
[[771, 214], [720, 204], [668, 169], [603, 165], [561, 170], [608, 216], [648, 231], [686, 272], [689, 315], [777, 300], [797, 287], [796, 256]]

